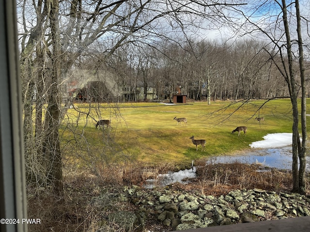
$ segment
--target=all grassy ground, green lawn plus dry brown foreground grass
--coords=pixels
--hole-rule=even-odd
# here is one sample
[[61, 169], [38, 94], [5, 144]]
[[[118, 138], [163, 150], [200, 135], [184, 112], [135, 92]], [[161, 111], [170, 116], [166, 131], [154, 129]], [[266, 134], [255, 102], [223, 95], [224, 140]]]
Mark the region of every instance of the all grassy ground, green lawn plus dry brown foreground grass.
[[[208, 156], [247, 151], [249, 144], [262, 140], [268, 133], [292, 130], [289, 100], [266, 104], [263, 101], [248, 102], [241, 108], [241, 103], [229, 106], [230, 103], [122, 103], [91, 107], [76, 103], [75, 109], [68, 109], [61, 130], [65, 200], [62, 203], [53, 201], [48, 188], [28, 185], [28, 216], [42, 221], [40, 225], [30, 225], [30, 230], [97, 231], [102, 218], [108, 218], [109, 212], [136, 212], [136, 205], [130, 200], [123, 202], [115, 197], [124, 195], [124, 186], [142, 187], [146, 179], [187, 168], [192, 160], [198, 167], [197, 177], [189, 184], [173, 184], [167, 188], [214, 196], [243, 188], [276, 192], [292, 189], [290, 172], [270, 170], [260, 173], [257, 172], [259, 165], [240, 163], [207, 164], [205, 158]], [[262, 105], [259, 113], [265, 117], [265, 122], [260, 125], [254, 118]], [[235, 112], [237, 108], [239, 110]], [[176, 126], [175, 116], [186, 117], [187, 126]], [[111, 129], [96, 130], [98, 119], [110, 119]], [[237, 126], [247, 126], [247, 136], [232, 134]], [[201, 147], [196, 151], [189, 139], [192, 135], [207, 141], [204, 152]], [[308, 178], [306, 186], [309, 192]], [[159, 189], [163, 188], [156, 188]], [[166, 193], [166, 187], [164, 191]], [[98, 206], [95, 199], [100, 202]], [[158, 224], [156, 219], [149, 221], [156, 223], [155, 226]], [[113, 226], [114, 221], [110, 224]], [[115, 228], [114, 231], [120, 231]], [[164, 230], [167, 227], [161, 231]]]

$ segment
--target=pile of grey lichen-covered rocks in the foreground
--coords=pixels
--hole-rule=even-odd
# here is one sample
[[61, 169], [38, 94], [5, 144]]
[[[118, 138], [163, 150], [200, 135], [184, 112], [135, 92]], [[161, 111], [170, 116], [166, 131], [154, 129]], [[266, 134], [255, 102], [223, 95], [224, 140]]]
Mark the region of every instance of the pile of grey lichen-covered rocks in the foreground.
[[155, 215], [159, 223], [173, 230], [310, 216], [310, 198], [296, 193], [234, 190], [215, 198], [138, 186], [125, 188], [124, 192], [131, 203], [140, 207], [138, 218], [143, 218], [138, 220], [140, 225], [147, 217]]

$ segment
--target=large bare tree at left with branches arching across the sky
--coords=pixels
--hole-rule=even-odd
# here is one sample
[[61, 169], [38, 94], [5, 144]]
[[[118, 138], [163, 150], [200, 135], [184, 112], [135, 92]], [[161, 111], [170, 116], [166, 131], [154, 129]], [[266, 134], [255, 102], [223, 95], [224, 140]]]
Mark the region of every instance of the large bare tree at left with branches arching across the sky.
[[[219, 3], [212, 0], [193, 0], [186, 4], [177, 0], [18, 2], [23, 26], [21, 63], [25, 96], [25, 146], [29, 156], [33, 151], [36, 154], [41, 151], [45, 153], [47, 160], [42, 166], [46, 168], [55, 196], [62, 196], [59, 129], [64, 112], [71, 104], [70, 98], [61, 104], [62, 90], [66, 75], [73, 65], [84, 55], [95, 51], [98, 44], [100, 52], [104, 54], [101, 62], [105, 63], [127, 43], [147, 43], [152, 46], [159, 37], [171, 40], [180, 33], [194, 34], [203, 27], [205, 21], [217, 26], [229, 23], [232, 20], [228, 13], [235, 11], [237, 5], [234, 1]], [[37, 71], [38, 78], [32, 73], [35, 66], [42, 67]], [[33, 98], [37, 93], [41, 96]], [[37, 143], [31, 137], [33, 99], [47, 103], [42, 126], [40, 112], [43, 104], [38, 104], [39, 115], [35, 120]]]

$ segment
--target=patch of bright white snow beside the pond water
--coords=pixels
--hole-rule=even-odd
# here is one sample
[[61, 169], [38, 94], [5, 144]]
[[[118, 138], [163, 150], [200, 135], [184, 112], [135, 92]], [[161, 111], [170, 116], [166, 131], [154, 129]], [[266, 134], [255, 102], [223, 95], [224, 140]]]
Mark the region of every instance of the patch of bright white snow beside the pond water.
[[263, 136], [262, 141], [253, 142], [250, 147], [253, 148], [280, 148], [292, 145], [292, 133], [273, 133]]

